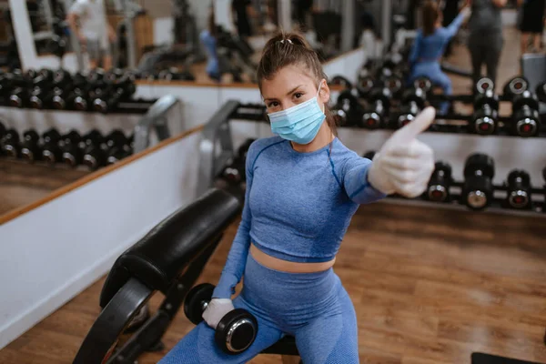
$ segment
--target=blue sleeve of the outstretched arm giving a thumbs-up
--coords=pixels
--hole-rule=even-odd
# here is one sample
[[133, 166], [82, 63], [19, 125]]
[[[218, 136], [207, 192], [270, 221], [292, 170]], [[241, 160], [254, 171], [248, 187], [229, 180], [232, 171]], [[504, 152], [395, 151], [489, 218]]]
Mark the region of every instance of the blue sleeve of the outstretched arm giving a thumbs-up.
[[387, 196], [369, 184], [369, 167], [371, 160], [355, 153], [342, 170], [343, 187], [349, 198], [357, 204], [369, 204]]

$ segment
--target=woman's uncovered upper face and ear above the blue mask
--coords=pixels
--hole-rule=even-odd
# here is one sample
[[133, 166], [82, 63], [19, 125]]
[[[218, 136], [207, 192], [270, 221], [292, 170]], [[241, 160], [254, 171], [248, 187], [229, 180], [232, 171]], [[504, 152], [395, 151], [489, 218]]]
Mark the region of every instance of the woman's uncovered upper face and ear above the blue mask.
[[[329, 87], [326, 81], [320, 81], [318, 97], [320, 108], [329, 101]], [[307, 75], [300, 66], [286, 66], [273, 76], [262, 81], [261, 92], [268, 114], [297, 106], [317, 96], [319, 85], [314, 78]]]

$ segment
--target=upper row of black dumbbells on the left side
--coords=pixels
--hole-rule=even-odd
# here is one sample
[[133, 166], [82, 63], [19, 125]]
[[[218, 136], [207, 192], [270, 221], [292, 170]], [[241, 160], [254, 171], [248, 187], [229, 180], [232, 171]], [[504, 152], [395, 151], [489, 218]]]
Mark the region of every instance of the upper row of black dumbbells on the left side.
[[114, 69], [88, 75], [66, 70], [41, 69], [0, 74], [0, 103], [35, 109], [97, 111], [108, 113], [136, 92], [136, 77]]

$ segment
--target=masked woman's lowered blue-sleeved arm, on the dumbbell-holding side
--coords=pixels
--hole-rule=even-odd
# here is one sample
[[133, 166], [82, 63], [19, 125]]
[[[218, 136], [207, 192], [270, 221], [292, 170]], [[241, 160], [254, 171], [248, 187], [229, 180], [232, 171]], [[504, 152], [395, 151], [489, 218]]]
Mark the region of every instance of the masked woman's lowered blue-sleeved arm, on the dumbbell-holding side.
[[247, 265], [248, 248], [250, 247], [250, 223], [251, 214], [248, 207], [248, 196], [252, 187], [252, 165], [256, 159], [256, 146], [251, 145], [248, 148], [246, 173], [247, 173], [247, 190], [245, 192], [245, 205], [241, 222], [238, 226], [237, 234], [233, 239], [229, 254], [227, 255], [226, 265], [222, 270], [222, 275], [218, 281], [217, 287], [214, 289], [212, 298], [231, 298], [235, 294], [235, 287], [243, 277], [243, 272]]

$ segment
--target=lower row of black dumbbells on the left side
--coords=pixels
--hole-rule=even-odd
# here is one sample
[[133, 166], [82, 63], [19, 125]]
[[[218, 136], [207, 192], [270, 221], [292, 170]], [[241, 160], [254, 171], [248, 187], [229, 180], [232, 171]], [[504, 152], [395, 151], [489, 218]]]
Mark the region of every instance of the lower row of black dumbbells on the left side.
[[106, 136], [95, 129], [80, 136], [76, 130], [61, 134], [56, 128], [40, 136], [31, 129], [19, 136], [15, 129], [5, 129], [0, 124], [0, 157], [96, 170], [132, 154], [133, 136], [126, 137], [119, 129]]

